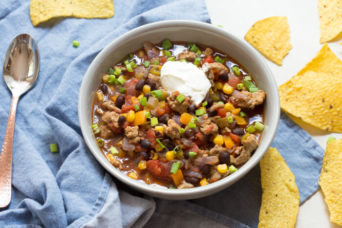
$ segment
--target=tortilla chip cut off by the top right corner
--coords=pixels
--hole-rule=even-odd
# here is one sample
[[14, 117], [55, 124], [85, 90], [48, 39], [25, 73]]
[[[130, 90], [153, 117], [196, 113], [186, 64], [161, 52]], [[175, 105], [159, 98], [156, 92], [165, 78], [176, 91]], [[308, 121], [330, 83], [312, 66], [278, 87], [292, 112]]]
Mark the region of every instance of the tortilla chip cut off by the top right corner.
[[321, 21], [321, 43], [334, 39], [342, 32], [341, 0], [319, 0], [318, 14]]

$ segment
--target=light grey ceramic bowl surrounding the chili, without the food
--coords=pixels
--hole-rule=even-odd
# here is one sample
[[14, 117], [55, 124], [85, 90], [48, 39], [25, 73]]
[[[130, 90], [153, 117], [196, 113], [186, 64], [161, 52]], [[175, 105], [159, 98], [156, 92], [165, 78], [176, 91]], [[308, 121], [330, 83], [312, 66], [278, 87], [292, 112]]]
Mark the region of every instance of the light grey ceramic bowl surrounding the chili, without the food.
[[[149, 186], [135, 181], [112, 166], [98, 148], [92, 130], [91, 113], [95, 91], [102, 76], [127, 53], [143, 46], [145, 41], [158, 43], [165, 38], [171, 41], [201, 43], [227, 53], [241, 63], [253, 76], [258, 87], [266, 93], [265, 128], [259, 146], [251, 159], [228, 177], [203, 187], [168, 189]], [[154, 197], [172, 200], [201, 198], [233, 185], [251, 170], [263, 157], [276, 134], [280, 116], [277, 83], [261, 56], [246, 41], [212, 24], [197, 21], [159, 21], [135, 28], [109, 43], [91, 62], [83, 79], [79, 99], [78, 116], [85, 142], [99, 163], [115, 178], [138, 191]]]

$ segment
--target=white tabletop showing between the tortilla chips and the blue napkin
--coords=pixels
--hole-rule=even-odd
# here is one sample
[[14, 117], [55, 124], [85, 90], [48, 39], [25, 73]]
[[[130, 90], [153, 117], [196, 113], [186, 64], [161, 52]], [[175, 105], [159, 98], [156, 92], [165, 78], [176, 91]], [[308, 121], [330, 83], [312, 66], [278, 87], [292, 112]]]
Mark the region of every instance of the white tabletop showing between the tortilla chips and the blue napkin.
[[[317, 0], [206, 0], [209, 15], [214, 25], [243, 38], [249, 28], [258, 20], [271, 16], [286, 16], [291, 29], [292, 49], [283, 59], [282, 66], [266, 59], [278, 85], [286, 82], [321, 49], [320, 21]], [[330, 49], [342, 59], [342, 34], [328, 42]], [[330, 133], [295, 120], [324, 149], [329, 136], [342, 138], [342, 134]], [[299, 207], [296, 228], [338, 228], [329, 220], [329, 210], [324, 194], [319, 189]]]

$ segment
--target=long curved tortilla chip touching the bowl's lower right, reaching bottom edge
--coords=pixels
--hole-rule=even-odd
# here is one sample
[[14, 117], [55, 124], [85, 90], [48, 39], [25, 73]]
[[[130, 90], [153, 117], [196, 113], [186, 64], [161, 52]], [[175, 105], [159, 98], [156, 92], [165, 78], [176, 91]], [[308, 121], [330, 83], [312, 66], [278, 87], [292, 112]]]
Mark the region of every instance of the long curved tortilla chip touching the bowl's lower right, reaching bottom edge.
[[299, 191], [295, 176], [276, 148], [260, 161], [262, 200], [258, 228], [295, 227]]

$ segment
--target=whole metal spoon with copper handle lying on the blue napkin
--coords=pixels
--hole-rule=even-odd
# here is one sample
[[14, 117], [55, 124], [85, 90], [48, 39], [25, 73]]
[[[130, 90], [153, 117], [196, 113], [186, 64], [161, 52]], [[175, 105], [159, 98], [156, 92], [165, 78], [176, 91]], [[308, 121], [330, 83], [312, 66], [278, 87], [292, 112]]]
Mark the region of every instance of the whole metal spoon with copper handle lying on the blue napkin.
[[7, 207], [11, 202], [12, 149], [17, 104], [19, 97], [36, 82], [39, 66], [36, 41], [28, 34], [20, 34], [9, 45], [3, 61], [3, 78], [12, 92], [12, 102], [0, 154], [0, 208]]

